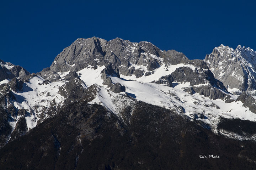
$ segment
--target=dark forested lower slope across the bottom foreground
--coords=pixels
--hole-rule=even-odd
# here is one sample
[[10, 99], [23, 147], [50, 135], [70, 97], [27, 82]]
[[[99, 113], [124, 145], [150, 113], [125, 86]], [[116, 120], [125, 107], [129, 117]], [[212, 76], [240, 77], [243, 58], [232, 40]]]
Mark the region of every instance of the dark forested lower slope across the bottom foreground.
[[[217, 136], [181, 115], [138, 102], [130, 123], [97, 104], [70, 104], [0, 150], [4, 170], [255, 169], [256, 145]], [[241, 147], [243, 146], [243, 147]], [[220, 158], [209, 158], [210, 154]], [[208, 158], [199, 158], [206, 155]]]

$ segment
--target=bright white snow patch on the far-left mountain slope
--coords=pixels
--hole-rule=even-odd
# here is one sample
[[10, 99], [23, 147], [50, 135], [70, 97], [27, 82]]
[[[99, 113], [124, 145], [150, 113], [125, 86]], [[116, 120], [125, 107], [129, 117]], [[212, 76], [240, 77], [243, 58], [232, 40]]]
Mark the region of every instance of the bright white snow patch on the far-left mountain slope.
[[58, 91], [59, 87], [64, 85], [65, 81], [56, 81], [49, 84], [43, 84], [44, 79], [35, 76], [27, 83], [23, 84], [22, 91], [12, 91], [16, 100], [11, 101], [17, 109], [24, 108], [30, 115], [26, 115], [28, 128], [36, 126], [38, 116], [42, 112], [47, 112], [51, 102], [55, 101], [61, 104], [64, 97]]

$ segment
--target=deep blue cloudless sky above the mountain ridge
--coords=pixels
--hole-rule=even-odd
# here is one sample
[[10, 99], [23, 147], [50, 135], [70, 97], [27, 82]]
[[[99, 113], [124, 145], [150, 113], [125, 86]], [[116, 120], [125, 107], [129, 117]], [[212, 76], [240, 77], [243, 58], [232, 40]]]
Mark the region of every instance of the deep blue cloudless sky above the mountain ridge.
[[150, 41], [190, 59], [220, 44], [256, 50], [256, 2], [2, 1], [0, 59], [29, 72], [49, 67], [77, 38]]

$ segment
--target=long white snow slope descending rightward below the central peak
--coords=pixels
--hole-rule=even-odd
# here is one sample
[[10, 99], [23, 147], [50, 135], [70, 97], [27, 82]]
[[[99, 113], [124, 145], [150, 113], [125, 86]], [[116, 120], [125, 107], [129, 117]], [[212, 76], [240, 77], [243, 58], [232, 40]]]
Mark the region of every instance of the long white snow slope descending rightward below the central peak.
[[[90, 70], [87, 69], [87, 72], [90, 73]], [[87, 75], [85, 70], [83, 71], [83, 74]], [[83, 77], [83, 74], [81, 75], [81, 77]], [[125, 86], [125, 93], [130, 97], [133, 97], [139, 101], [164, 107], [166, 109], [175, 110], [177, 111], [177, 113], [185, 114], [191, 119], [201, 120], [204, 123], [209, 124], [213, 130], [216, 130], [215, 128], [217, 127], [216, 125], [219, 121], [219, 117], [239, 118], [256, 121], [256, 114], [249, 111], [248, 108], [243, 107], [243, 103], [241, 101], [235, 101], [237, 99], [235, 95], [228, 94], [234, 101], [231, 103], [226, 103], [224, 100], [221, 99], [210, 100], [208, 97], [204, 97], [197, 93], [189, 94], [183, 91], [184, 87], [191, 86], [189, 83], [175, 83], [173, 87], [169, 87], [166, 85], [149, 83], [146, 81], [143, 82], [137, 80], [126, 80], [122, 78], [122, 75], [120, 77], [121, 78], [110, 78], [112, 79], [113, 83], [120, 83], [121, 85]], [[93, 77], [91, 78], [94, 79]], [[85, 81], [85, 84], [87, 84], [86, 79], [83, 80]], [[88, 80], [88, 82], [90, 81], [91, 80]], [[105, 88], [101, 87], [101, 89]], [[98, 94], [98, 96], [100, 97], [98, 97], [97, 100], [94, 100], [95, 102], [104, 103], [104, 105], [108, 109], [117, 114], [119, 110], [110, 106], [127, 106], [127, 103], [122, 102], [111, 104], [111, 95], [108, 95], [108, 97], [106, 97], [106, 90], [102, 91], [104, 91], [105, 93], [101, 92], [100, 94]], [[120, 94], [122, 95], [123, 93], [124, 92], [121, 92]], [[120, 96], [119, 99], [122, 101], [123, 99], [121, 98], [123, 98], [123, 96]]]

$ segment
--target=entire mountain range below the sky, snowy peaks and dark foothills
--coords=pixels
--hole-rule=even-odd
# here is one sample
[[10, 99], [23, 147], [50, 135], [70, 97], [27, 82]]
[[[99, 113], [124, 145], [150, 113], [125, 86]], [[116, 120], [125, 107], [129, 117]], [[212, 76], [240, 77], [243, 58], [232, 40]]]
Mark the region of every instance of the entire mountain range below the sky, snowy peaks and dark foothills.
[[189, 60], [92, 37], [39, 73], [0, 60], [0, 167], [256, 169], [255, 95], [249, 47]]

